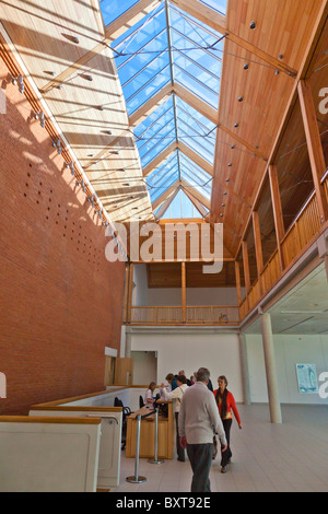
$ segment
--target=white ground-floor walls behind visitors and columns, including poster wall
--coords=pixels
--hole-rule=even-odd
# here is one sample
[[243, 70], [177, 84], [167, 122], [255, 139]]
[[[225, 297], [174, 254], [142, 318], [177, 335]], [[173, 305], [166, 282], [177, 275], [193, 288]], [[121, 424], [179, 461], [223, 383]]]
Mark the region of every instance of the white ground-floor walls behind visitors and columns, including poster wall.
[[[220, 334], [219, 329], [206, 328], [145, 328], [132, 332], [131, 341], [132, 351], [157, 352], [155, 382], [161, 383], [167, 373], [177, 373], [180, 369], [189, 377], [198, 367], [204, 366], [211, 372], [213, 386], [216, 387], [219, 375], [226, 375], [236, 401], [244, 400], [237, 334]], [[296, 364], [302, 363], [315, 364], [318, 378], [320, 373], [328, 372], [328, 336], [274, 335], [273, 341], [281, 404], [328, 405], [328, 399], [318, 394], [301, 394], [296, 376]], [[261, 335], [247, 334], [246, 346], [251, 402], [268, 402]], [[153, 373], [144, 374], [145, 384], [153, 379], [151, 375]]]

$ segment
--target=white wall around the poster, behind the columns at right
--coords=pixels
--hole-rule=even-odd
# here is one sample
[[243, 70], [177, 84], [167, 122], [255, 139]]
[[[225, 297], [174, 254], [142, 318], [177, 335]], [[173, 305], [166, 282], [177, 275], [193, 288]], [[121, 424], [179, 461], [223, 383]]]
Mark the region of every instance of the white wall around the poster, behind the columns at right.
[[[315, 364], [317, 376], [328, 372], [328, 336], [273, 336], [276, 370], [281, 404], [325, 404], [318, 394], [298, 392], [296, 364]], [[267, 402], [262, 337], [246, 335], [250, 396], [253, 402]], [[320, 383], [319, 383], [320, 385]]]

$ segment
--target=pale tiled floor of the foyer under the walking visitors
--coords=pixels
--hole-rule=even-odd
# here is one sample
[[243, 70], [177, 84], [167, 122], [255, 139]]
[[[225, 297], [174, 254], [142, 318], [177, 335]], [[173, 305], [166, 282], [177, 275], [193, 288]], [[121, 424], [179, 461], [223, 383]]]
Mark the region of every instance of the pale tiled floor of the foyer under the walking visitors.
[[[328, 492], [328, 406], [282, 406], [282, 424], [270, 423], [267, 405], [238, 405], [243, 429], [232, 428], [232, 464], [220, 472], [213, 462], [212, 492]], [[174, 458], [164, 464], [140, 459], [139, 476], [129, 483], [134, 459], [122, 452], [120, 486], [113, 492], [189, 492], [190, 464]]]

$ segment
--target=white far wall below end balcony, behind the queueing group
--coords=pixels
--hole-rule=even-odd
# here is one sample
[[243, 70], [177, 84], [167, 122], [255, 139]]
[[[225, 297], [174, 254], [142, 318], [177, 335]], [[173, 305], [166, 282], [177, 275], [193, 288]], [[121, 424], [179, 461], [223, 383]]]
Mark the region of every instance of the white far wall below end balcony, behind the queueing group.
[[[211, 372], [213, 387], [218, 376], [226, 375], [229, 388], [236, 401], [243, 401], [239, 340], [236, 334], [220, 334], [214, 329], [136, 330], [131, 336], [132, 351], [157, 352], [156, 382], [165, 381], [167, 373], [185, 370], [189, 377], [199, 367]], [[144, 383], [151, 376], [144, 377]]]

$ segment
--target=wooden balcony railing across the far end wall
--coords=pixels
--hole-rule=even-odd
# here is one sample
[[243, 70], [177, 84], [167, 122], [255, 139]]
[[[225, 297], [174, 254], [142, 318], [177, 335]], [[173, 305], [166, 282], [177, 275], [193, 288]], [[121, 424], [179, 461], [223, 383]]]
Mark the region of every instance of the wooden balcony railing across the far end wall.
[[221, 325], [237, 326], [237, 305], [131, 307], [131, 325]]

